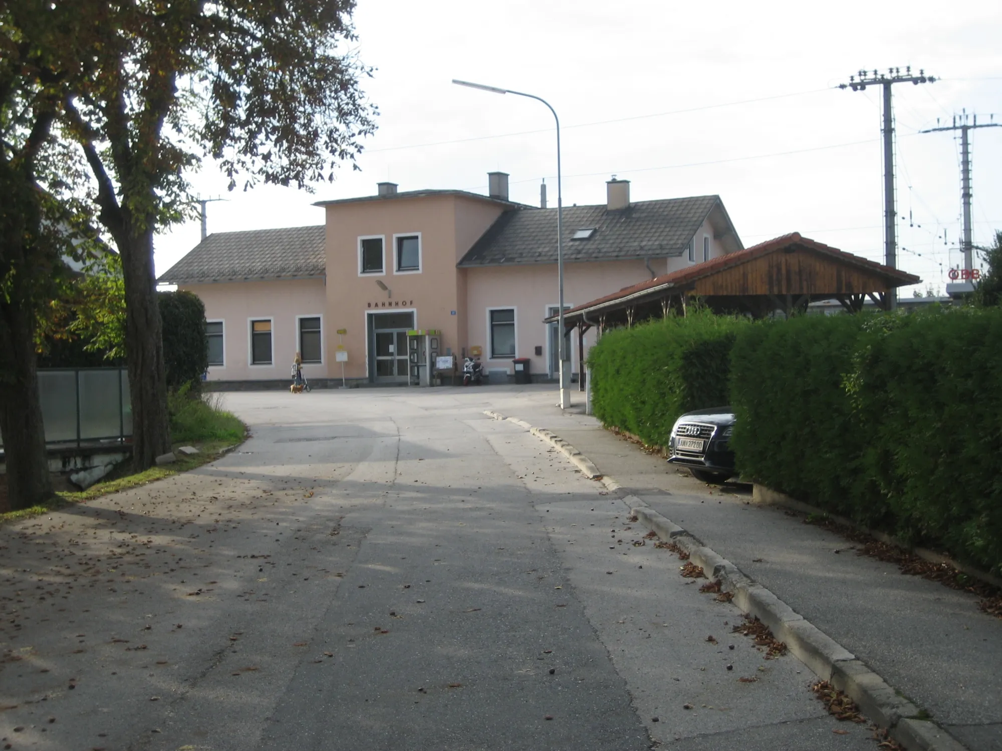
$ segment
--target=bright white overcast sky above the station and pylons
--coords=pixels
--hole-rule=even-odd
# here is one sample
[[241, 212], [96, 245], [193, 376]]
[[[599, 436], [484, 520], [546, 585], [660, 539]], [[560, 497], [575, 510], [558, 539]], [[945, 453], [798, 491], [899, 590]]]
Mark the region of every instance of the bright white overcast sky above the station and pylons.
[[[211, 163], [192, 175], [208, 231], [321, 224], [324, 199], [400, 190], [487, 191], [556, 205], [553, 117], [539, 102], [455, 86], [453, 78], [543, 97], [561, 123], [564, 205], [603, 203], [612, 175], [632, 200], [717, 194], [744, 246], [799, 231], [883, 262], [879, 88], [838, 88], [861, 68], [923, 69], [894, 86], [899, 267], [942, 293], [962, 263], [959, 133], [920, 131], [977, 113], [1002, 124], [1002, 3], [914, 0], [358, 0], [363, 81], [380, 108], [361, 170], [334, 182], [226, 191]], [[1002, 127], [972, 131], [975, 245], [1002, 229]], [[194, 247], [199, 223], [155, 240], [157, 273]], [[979, 265], [979, 262], [976, 262]]]

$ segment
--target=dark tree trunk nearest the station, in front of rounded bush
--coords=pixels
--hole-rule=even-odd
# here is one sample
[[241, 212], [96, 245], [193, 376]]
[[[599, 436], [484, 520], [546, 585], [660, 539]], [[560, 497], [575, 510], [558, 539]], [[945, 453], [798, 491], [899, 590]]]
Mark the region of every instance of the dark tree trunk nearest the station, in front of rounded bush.
[[125, 281], [125, 357], [132, 399], [132, 463], [142, 471], [170, 451], [160, 311], [153, 274], [153, 231], [119, 245]]

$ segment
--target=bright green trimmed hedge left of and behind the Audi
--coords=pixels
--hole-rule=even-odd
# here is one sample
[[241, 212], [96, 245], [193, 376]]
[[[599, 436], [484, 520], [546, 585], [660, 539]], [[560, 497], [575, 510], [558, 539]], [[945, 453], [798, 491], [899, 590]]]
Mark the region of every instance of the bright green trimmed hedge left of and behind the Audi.
[[607, 331], [588, 353], [595, 416], [666, 446], [679, 415], [728, 403], [730, 347], [748, 325], [699, 311]]

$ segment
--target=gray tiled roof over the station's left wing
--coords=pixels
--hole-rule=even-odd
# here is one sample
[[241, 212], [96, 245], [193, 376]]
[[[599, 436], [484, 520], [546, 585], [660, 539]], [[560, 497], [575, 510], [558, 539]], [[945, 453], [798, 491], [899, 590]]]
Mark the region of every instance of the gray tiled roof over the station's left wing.
[[215, 232], [160, 274], [169, 284], [323, 276], [325, 227]]

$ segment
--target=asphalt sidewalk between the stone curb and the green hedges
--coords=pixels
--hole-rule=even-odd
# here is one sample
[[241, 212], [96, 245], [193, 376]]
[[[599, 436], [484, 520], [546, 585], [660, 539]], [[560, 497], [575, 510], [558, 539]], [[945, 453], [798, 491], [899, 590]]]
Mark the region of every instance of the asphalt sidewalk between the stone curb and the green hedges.
[[[578, 402], [583, 395], [572, 393]], [[492, 395], [492, 409], [553, 431], [654, 511], [728, 559], [925, 709], [971, 751], [1002, 751], [1002, 620], [977, 598], [858, 556], [854, 545], [746, 489], [706, 486], [604, 431], [552, 390]]]

